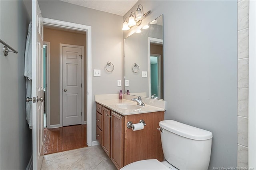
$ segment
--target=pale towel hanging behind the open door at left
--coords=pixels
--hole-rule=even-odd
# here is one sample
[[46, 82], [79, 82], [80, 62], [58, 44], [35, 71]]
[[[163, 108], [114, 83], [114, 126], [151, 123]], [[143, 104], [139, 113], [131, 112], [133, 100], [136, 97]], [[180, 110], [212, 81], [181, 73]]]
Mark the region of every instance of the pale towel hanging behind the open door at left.
[[[28, 36], [26, 40], [24, 76], [26, 77], [26, 97], [32, 98], [32, 30], [31, 22], [28, 26]], [[26, 119], [29, 128], [32, 128], [32, 101], [26, 102]]]

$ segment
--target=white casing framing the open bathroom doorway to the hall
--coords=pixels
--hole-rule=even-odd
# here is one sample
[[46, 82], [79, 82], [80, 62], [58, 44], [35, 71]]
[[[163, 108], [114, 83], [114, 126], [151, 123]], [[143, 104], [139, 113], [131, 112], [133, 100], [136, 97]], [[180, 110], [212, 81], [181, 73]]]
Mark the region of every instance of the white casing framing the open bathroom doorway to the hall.
[[[70, 22], [63, 22], [59, 20], [52, 20], [48, 18], [43, 18], [44, 26], [54, 26], [55, 28], [58, 29], [66, 29], [66, 30], [72, 30], [72, 31], [79, 31], [79, 32], [86, 32], [86, 58], [84, 60], [86, 61], [86, 79], [84, 79], [84, 84], [86, 86], [84, 89], [84, 103], [85, 104], [85, 109], [84, 112], [86, 112], [86, 124], [87, 124], [87, 145], [92, 146], [92, 125], [91, 125], [91, 111], [92, 111], [92, 96], [91, 96], [91, 27], [90, 26], [85, 26], [81, 24], [74, 24]], [[51, 57], [52, 59], [53, 57]], [[59, 61], [58, 61], [59, 63]], [[58, 71], [56, 71], [58, 72]], [[52, 80], [52, 79], [51, 79]], [[52, 80], [53, 81], [53, 80]], [[56, 81], [56, 80], [54, 80]], [[60, 82], [60, 81], [59, 81]], [[59, 84], [59, 83], [58, 83]], [[52, 95], [52, 94], [51, 94]], [[59, 95], [58, 95], [59, 96]], [[51, 106], [50, 106], [51, 107]], [[59, 107], [60, 108], [60, 107]], [[60, 119], [58, 119], [60, 120]], [[62, 127], [61, 121], [59, 122], [59, 125], [54, 125], [52, 123], [52, 119], [50, 120], [52, 125], [48, 125], [50, 128], [58, 128]], [[85, 122], [84, 122], [85, 123]]]

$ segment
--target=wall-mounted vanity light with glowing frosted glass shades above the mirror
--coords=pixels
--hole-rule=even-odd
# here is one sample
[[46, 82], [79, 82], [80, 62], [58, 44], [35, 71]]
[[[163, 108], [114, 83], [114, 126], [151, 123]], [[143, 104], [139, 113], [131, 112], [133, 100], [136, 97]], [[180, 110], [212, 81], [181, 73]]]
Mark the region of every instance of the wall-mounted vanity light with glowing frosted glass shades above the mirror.
[[[141, 10], [141, 8], [142, 10]], [[124, 20], [123, 22], [123, 28], [122, 30], [129, 30], [130, 27], [132, 26], [140, 26], [140, 24], [142, 23], [142, 20], [148, 15], [151, 13], [151, 10], [149, 10], [148, 12], [146, 12], [144, 14], [144, 11], [143, 11], [143, 6], [141, 4], [138, 5], [138, 8], [136, 10], [136, 14], [135, 12], [131, 12], [130, 16], [129, 16], [129, 22], [126, 21], [126, 19]], [[127, 24], [126, 24], [127, 23]], [[127, 26], [129, 27], [129, 29], [127, 28]], [[146, 29], [146, 28], [145, 28]]]

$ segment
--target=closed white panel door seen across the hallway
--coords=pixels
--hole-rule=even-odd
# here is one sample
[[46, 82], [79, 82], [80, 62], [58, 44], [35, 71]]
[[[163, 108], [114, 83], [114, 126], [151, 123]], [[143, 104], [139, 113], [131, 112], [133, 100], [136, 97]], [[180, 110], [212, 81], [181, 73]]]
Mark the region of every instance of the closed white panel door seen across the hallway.
[[60, 44], [62, 53], [62, 125], [82, 124], [82, 54], [84, 47]]

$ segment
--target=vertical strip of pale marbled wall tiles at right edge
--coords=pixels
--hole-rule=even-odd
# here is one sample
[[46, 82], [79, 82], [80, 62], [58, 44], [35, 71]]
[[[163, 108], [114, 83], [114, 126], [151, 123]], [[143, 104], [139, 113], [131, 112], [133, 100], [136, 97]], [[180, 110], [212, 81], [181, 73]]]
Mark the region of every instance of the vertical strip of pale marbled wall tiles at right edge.
[[249, 1], [238, 0], [237, 166], [248, 167]]

